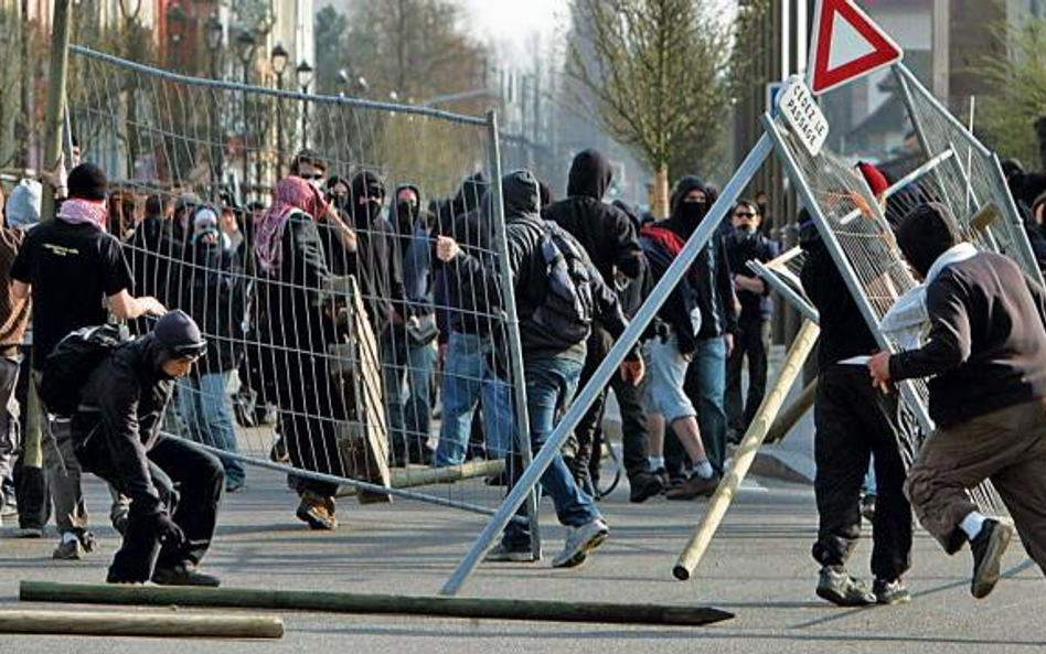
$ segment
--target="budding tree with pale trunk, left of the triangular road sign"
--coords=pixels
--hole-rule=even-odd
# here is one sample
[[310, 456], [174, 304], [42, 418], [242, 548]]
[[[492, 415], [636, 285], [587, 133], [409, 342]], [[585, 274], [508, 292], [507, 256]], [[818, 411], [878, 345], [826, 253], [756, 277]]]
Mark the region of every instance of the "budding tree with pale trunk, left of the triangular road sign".
[[733, 37], [717, 7], [574, 0], [567, 75], [607, 131], [653, 170], [658, 216], [669, 211], [670, 173], [707, 172], [727, 131]]

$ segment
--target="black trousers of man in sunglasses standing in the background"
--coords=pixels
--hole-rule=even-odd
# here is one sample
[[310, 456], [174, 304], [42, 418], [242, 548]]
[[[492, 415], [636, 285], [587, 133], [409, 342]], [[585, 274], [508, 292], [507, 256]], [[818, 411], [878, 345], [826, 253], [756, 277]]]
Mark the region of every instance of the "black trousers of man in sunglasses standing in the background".
[[[732, 429], [748, 429], [767, 393], [767, 345], [770, 323], [765, 320], [741, 322], [734, 335], [734, 352], [726, 360], [726, 419]], [[741, 371], [748, 358], [748, 395], [741, 400]]]

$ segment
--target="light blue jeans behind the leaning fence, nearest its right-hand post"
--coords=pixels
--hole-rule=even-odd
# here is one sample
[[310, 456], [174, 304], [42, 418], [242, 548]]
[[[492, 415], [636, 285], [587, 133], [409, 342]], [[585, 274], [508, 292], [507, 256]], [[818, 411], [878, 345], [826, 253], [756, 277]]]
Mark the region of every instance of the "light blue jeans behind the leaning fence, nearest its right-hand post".
[[472, 414], [480, 397], [488, 457], [500, 459], [509, 452], [515, 433], [512, 393], [509, 384], [499, 378], [487, 362], [491, 346], [490, 339], [450, 332], [441, 386], [444, 418], [434, 465], [465, 462]]

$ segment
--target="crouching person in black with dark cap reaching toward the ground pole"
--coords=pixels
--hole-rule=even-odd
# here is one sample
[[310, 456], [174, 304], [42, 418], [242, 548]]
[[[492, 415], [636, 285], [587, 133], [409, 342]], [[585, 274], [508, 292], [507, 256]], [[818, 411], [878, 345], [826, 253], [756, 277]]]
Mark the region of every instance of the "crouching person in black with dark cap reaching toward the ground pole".
[[196, 323], [173, 311], [114, 350], [84, 386], [72, 420], [76, 457], [131, 498], [110, 583], [218, 585], [196, 566], [214, 535], [224, 469], [217, 457], [160, 433], [174, 380], [205, 350]]

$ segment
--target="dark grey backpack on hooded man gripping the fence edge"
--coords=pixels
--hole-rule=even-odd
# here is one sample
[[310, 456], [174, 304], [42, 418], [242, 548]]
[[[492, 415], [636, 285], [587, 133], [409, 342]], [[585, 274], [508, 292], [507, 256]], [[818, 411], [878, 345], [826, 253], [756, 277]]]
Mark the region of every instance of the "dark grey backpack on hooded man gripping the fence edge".
[[545, 260], [545, 294], [533, 320], [547, 336], [569, 347], [591, 333], [595, 313], [593, 271], [581, 246], [552, 221], [544, 222], [541, 254]]

